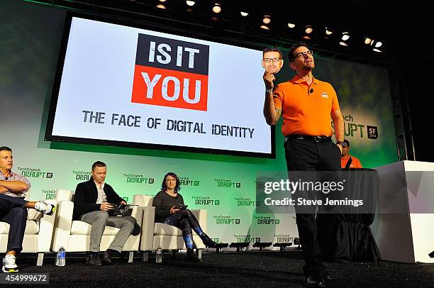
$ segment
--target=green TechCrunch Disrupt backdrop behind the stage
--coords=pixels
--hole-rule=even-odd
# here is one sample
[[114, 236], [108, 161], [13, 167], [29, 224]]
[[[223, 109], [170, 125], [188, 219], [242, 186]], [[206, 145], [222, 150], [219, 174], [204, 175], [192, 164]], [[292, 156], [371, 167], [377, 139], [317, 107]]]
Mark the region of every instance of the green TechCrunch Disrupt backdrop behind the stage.
[[[163, 175], [176, 172], [186, 204], [208, 210], [207, 232], [218, 242], [291, 242], [297, 236], [294, 215], [257, 213], [255, 199], [256, 187], [264, 184], [256, 182], [257, 172], [285, 170], [281, 123], [276, 129], [276, 159], [43, 140], [65, 11], [13, 0], [1, 1], [0, 6], [0, 145], [13, 148], [13, 170], [30, 180], [31, 199], [52, 199], [56, 189], [74, 189], [89, 179], [91, 164], [101, 160], [108, 165], [107, 182], [128, 201], [134, 194], [155, 195]], [[330, 59], [317, 58], [316, 64], [315, 76], [332, 83], [338, 93], [350, 153], [364, 167], [395, 162], [386, 70]], [[231, 73], [237, 77], [243, 72]], [[289, 75], [285, 66], [278, 81]], [[262, 73], [250, 81], [262, 82], [261, 77]], [[249, 96], [262, 98], [262, 90]], [[170, 136], [166, 140], [172, 141]]]

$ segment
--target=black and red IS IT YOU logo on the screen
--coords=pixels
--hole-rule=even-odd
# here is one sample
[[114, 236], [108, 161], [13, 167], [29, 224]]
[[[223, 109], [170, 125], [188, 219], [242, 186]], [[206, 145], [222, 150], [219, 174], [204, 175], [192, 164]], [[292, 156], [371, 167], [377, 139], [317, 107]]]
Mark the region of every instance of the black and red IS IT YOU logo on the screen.
[[138, 35], [131, 102], [206, 111], [209, 46]]

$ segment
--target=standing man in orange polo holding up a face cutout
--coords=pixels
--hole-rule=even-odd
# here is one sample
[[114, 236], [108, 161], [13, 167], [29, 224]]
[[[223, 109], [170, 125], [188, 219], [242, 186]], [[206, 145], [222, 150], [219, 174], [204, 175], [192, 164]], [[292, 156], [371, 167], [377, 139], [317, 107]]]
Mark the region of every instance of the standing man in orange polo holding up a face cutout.
[[[263, 59], [278, 57], [279, 53], [264, 50]], [[288, 171], [338, 171], [343, 149], [344, 121], [333, 87], [315, 79], [313, 53], [304, 44], [294, 45], [289, 51], [289, 67], [296, 72], [291, 80], [274, 87], [275, 72], [265, 67], [264, 116], [269, 125], [275, 125], [283, 116], [282, 133]], [[336, 144], [332, 142], [333, 126]], [[297, 213], [308, 285], [325, 287], [325, 273], [321, 248], [318, 243], [316, 214]]]

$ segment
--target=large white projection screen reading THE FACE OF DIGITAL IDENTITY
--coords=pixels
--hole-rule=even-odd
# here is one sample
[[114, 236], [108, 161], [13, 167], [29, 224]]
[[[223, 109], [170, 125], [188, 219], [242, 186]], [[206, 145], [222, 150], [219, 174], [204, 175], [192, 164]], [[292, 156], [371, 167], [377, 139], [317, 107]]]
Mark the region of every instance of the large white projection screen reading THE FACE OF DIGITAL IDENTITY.
[[261, 58], [257, 50], [72, 17], [52, 139], [270, 155]]

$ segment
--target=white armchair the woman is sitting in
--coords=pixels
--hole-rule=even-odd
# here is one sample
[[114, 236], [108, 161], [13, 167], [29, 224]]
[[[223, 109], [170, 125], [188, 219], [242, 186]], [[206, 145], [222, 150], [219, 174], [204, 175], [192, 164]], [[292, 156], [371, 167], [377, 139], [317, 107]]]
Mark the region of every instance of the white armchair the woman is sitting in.
[[[152, 206], [154, 197], [148, 195], [134, 195], [133, 204], [143, 208], [142, 236], [140, 251], [143, 252], [143, 262], [148, 261], [149, 252], [162, 248], [163, 250], [182, 250], [185, 247], [181, 229], [164, 223], [155, 223], [155, 207]], [[196, 216], [203, 231], [206, 231], [206, 215], [204, 209], [191, 210]], [[193, 240], [201, 258], [202, 249], [206, 248], [201, 238], [193, 231]]]

